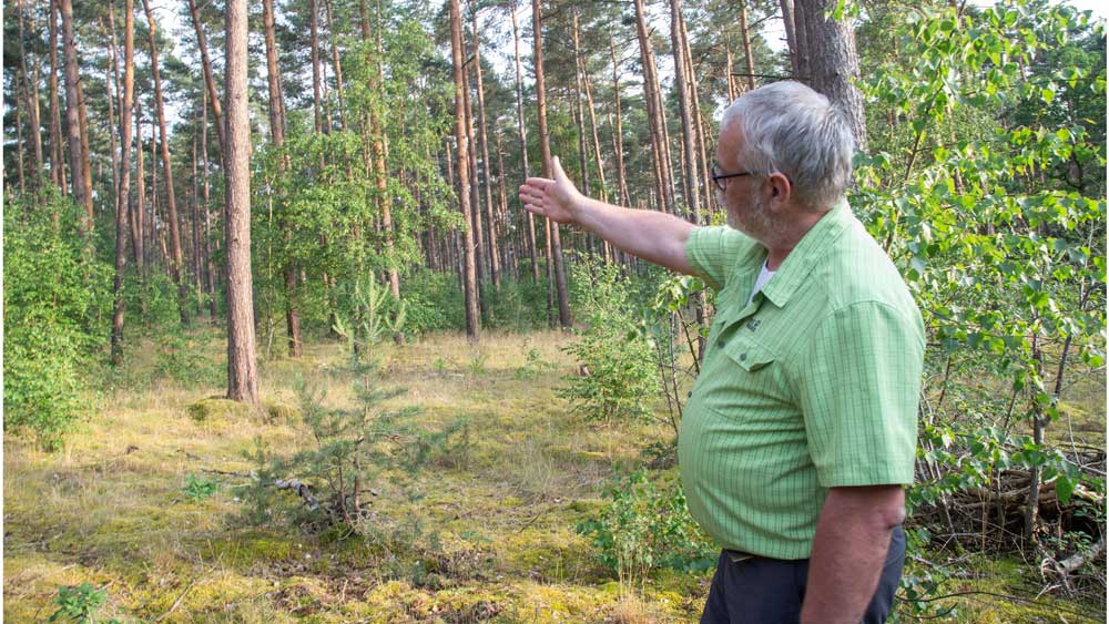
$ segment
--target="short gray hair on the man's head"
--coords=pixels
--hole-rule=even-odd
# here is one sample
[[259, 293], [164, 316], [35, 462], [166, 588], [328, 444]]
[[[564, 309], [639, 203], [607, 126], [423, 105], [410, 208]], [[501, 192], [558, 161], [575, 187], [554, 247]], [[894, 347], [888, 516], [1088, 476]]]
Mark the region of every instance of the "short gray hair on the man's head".
[[855, 137], [846, 115], [827, 98], [800, 82], [775, 82], [733, 102], [721, 131], [733, 122], [743, 133], [739, 160], [751, 171], [785, 174], [793, 196], [818, 211], [843, 197]]

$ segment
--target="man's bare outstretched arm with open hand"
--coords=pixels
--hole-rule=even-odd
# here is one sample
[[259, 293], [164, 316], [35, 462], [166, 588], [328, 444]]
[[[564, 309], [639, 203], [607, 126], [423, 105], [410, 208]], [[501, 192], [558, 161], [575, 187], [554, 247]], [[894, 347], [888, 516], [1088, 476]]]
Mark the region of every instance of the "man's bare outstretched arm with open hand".
[[523, 207], [557, 223], [577, 225], [620, 249], [679, 273], [692, 274], [685, 241], [694, 226], [673, 215], [622, 208], [586, 197], [566, 176], [558, 157], [554, 180], [529, 177], [520, 186]]

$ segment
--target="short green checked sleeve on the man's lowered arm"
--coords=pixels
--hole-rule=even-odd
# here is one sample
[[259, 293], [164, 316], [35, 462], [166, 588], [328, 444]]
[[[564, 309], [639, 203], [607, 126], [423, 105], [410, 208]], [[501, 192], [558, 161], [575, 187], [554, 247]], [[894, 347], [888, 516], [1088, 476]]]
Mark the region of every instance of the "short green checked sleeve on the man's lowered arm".
[[821, 324], [800, 359], [805, 431], [824, 488], [913, 482], [924, 328], [910, 311], [847, 306]]

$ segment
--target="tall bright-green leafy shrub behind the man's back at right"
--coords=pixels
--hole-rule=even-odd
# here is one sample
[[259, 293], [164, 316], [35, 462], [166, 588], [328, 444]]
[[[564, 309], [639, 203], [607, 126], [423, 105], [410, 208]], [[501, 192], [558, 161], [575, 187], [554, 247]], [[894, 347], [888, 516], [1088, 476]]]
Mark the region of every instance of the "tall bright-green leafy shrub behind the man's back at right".
[[944, 505], [1022, 470], [1035, 539], [1040, 483], [1060, 500], [1105, 488], [1045, 434], [1067, 380], [1103, 375], [1106, 130], [1086, 116], [1103, 109], [1103, 22], [1016, 0], [898, 23], [897, 52], [862, 83], [889, 139], [869, 129], [852, 201], [927, 331], [926, 479], [909, 499]]

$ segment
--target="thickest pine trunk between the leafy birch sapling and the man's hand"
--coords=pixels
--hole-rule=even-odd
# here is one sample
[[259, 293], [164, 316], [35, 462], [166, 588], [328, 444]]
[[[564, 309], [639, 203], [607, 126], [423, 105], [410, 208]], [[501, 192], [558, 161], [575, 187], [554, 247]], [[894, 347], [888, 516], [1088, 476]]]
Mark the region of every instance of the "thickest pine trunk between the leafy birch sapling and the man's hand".
[[476, 341], [481, 331], [478, 314], [477, 270], [475, 267], [474, 229], [470, 225], [469, 135], [466, 127], [466, 67], [462, 62], [462, 16], [458, 0], [448, 0], [450, 10], [450, 59], [455, 72], [455, 141], [458, 143], [458, 203], [461, 205], [466, 233], [462, 243], [462, 290], [466, 298], [466, 336]]

